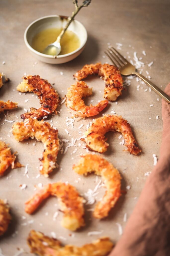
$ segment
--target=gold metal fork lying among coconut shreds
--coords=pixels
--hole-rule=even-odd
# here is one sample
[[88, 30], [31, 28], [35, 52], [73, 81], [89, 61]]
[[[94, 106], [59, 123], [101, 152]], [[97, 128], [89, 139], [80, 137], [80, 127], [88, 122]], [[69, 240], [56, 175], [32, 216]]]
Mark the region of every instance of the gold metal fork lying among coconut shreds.
[[141, 78], [148, 86], [154, 90], [159, 96], [161, 96], [164, 100], [170, 103], [170, 97], [163, 92], [160, 88], [158, 88], [154, 83], [149, 81], [146, 77], [142, 76], [138, 72], [136, 72], [136, 68], [130, 64], [118, 51], [116, 51], [113, 46], [109, 46], [107, 51], [104, 51], [107, 57], [111, 60], [114, 66], [118, 67], [121, 75], [129, 76], [135, 74], [139, 78]]

